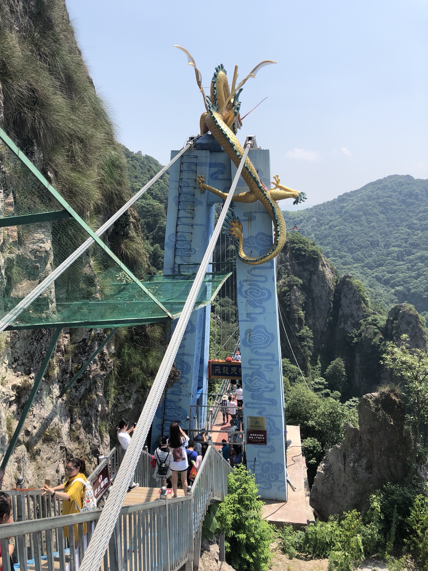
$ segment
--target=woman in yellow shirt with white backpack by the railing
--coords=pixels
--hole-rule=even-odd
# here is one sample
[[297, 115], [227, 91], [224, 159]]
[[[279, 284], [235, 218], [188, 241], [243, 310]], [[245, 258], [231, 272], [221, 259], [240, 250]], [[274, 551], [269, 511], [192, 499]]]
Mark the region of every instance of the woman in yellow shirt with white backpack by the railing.
[[[84, 485], [79, 480], [84, 480], [86, 482], [86, 476], [84, 471], [86, 469], [86, 464], [83, 458], [71, 458], [67, 461], [66, 471], [68, 473], [68, 480], [64, 484], [55, 486], [55, 488], [49, 488], [46, 484], [41, 488], [45, 494], [50, 494], [51, 496], [56, 496], [62, 500], [62, 510], [61, 514], [67, 516], [70, 513], [79, 513], [83, 507], [83, 497], [84, 497]], [[80, 509], [79, 509], [80, 508]], [[83, 524], [83, 534], [86, 533], [86, 524]], [[64, 537], [68, 537], [68, 527], [64, 528]], [[74, 526], [74, 538], [76, 548], [79, 545], [78, 541], [78, 526]]]

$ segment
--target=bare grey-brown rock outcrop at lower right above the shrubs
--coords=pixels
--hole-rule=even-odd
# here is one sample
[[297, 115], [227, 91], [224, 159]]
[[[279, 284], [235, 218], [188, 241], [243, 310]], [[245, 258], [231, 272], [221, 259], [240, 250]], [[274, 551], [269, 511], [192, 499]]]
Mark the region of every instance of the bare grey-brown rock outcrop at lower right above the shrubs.
[[345, 436], [318, 466], [310, 505], [326, 520], [345, 510], [368, 507], [370, 494], [383, 484], [404, 482], [411, 436], [406, 410], [394, 392], [364, 395], [358, 404], [358, 425], [346, 425]]

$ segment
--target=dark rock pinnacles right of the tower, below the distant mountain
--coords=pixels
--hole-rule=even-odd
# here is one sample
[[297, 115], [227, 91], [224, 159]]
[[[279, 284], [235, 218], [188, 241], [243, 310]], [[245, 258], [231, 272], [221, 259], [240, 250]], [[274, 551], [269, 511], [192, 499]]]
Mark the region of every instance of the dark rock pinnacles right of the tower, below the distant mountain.
[[[293, 353], [307, 375], [322, 375], [339, 357], [344, 361], [345, 399], [374, 391], [382, 381], [379, 359], [386, 340], [408, 335], [412, 347], [426, 347], [425, 325], [412, 305], [395, 305], [386, 315], [370, 303], [361, 282], [349, 274], [338, 279], [316, 244], [298, 232], [288, 235], [278, 263], [278, 301]], [[294, 364], [284, 334], [281, 340], [282, 356]]]

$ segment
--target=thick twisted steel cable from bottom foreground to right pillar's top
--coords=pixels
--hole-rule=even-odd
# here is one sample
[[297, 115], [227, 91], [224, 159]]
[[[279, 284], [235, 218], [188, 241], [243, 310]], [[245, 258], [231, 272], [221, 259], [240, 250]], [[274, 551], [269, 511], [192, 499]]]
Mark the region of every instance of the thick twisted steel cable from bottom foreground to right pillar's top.
[[95, 532], [92, 534], [91, 542], [83, 557], [82, 565], [80, 565], [80, 571], [94, 571], [95, 569], [99, 569], [101, 565], [104, 552], [107, 549], [108, 542], [110, 541], [111, 534], [119, 517], [119, 512], [122, 508], [123, 500], [128, 490], [128, 485], [142, 453], [148, 431], [150, 430], [156, 409], [158, 408], [160, 399], [163, 395], [169, 372], [171, 371], [172, 364], [180, 347], [181, 339], [183, 339], [189, 317], [193, 311], [199, 289], [203, 282], [205, 273], [207, 272], [208, 265], [211, 263], [212, 253], [216, 246], [217, 239], [219, 238], [221, 227], [223, 226], [223, 222], [226, 218], [229, 205], [232, 201], [233, 192], [235, 191], [249, 148], [249, 145], [245, 148], [244, 155], [239, 167], [237, 168], [231, 190], [229, 190], [229, 194], [224, 202], [223, 210], [221, 210], [216, 227], [214, 228], [211, 236], [211, 240], [209, 240], [207, 251], [205, 251], [204, 258], [199, 266], [199, 270], [197, 271], [195, 281], [192, 284], [191, 290], [184, 304], [183, 311], [181, 312], [177, 325], [172, 333], [171, 340], [169, 341], [167, 350], [165, 351], [165, 355], [160, 364], [158, 374], [152, 384], [150, 393], [148, 393], [146, 403], [144, 404], [144, 408], [134, 431], [134, 436], [132, 436], [131, 443], [127, 448], [122, 464], [120, 465], [119, 471], [115, 477], [112, 490], [110, 494], [108, 494], [106, 505], [104, 505], [103, 512], [98, 520]]

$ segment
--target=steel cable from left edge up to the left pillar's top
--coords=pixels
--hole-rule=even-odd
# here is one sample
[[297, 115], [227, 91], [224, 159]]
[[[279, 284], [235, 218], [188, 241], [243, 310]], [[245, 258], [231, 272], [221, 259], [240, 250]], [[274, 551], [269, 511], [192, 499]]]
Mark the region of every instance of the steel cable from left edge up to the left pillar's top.
[[[136, 194], [134, 194], [134, 196], [132, 196], [132, 198], [128, 200], [128, 202], [124, 204], [122, 208], [120, 208], [120, 210], [115, 212], [115, 214], [111, 216], [111, 218], [109, 218], [107, 222], [105, 222], [102, 226], [100, 226], [98, 230], [95, 232], [95, 234], [97, 236], [101, 236], [102, 234], [104, 234], [104, 232], [108, 230], [108, 228], [110, 228], [110, 226], [114, 224], [116, 220], [120, 218], [120, 216], [122, 216], [122, 214], [126, 212], [128, 208], [130, 208], [130, 206], [132, 206], [132, 204], [134, 204], [134, 202], [136, 202], [136, 200], [138, 200], [140, 196], [142, 196], [144, 192], [146, 192], [146, 190], [148, 190], [148, 188], [150, 188], [152, 184], [154, 184], [156, 180], [158, 180], [164, 174], [164, 172], [168, 170], [171, 164], [175, 163], [175, 161], [178, 160], [180, 156], [183, 155], [183, 153], [187, 151], [187, 149], [190, 147], [191, 143], [185, 145], [185, 147], [183, 147], [181, 151], [177, 155], [175, 155], [175, 157], [172, 160], [170, 160], [169, 163], [165, 165], [158, 172], [158, 174], [156, 174], [151, 180], [149, 180], [149, 182], [145, 184], [143, 188], [141, 188], [138, 192], [136, 192]], [[33, 301], [37, 299], [37, 297], [39, 297], [39, 295], [41, 295], [41, 293], [43, 293], [43, 291], [45, 291], [45, 289], [49, 287], [50, 284], [53, 283], [56, 280], [56, 278], [58, 278], [58, 276], [60, 276], [65, 270], [67, 270], [67, 268], [70, 267], [71, 264], [75, 262], [75, 260], [77, 260], [79, 256], [81, 256], [83, 252], [86, 251], [94, 242], [95, 240], [93, 238], [88, 238], [86, 242], [83, 242], [83, 244], [79, 246], [77, 250], [75, 250], [72, 254], [70, 254], [70, 256], [68, 256], [68, 258], [64, 260], [64, 262], [59, 264], [59, 266], [56, 267], [55, 270], [51, 272], [49, 276], [47, 276], [43, 280], [43, 282], [39, 283], [37, 287], [35, 287], [32, 291], [30, 291], [28, 295], [24, 297], [24, 299], [19, 301], [19, 303], [17, 303], [17, 305], [15, 305], [15, 307], [11, 309], [11, 311], [9, 311], [9, 313], [6, 313], [6, 315], [2, 317], [2, 319], [0, 319], [0, 331], [4, 331], [6, 327], [10, 325], [10, 323], [12, 323], [12, 321], [17, 319], [18, 315], [26, 307], [28, 307], [30, 303], [33, 303]]]

